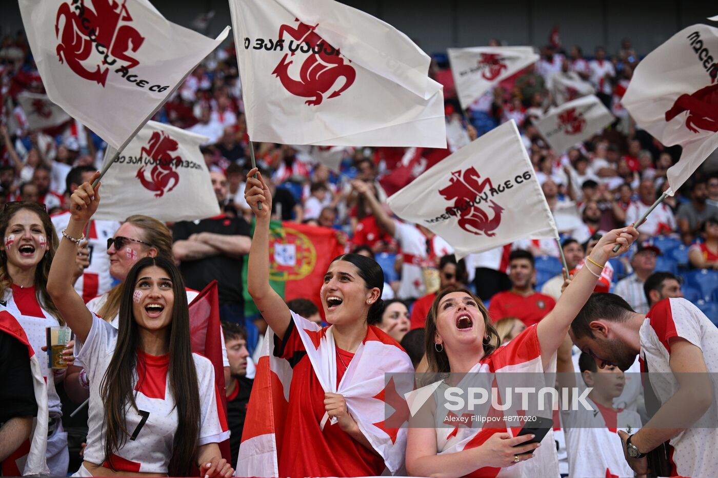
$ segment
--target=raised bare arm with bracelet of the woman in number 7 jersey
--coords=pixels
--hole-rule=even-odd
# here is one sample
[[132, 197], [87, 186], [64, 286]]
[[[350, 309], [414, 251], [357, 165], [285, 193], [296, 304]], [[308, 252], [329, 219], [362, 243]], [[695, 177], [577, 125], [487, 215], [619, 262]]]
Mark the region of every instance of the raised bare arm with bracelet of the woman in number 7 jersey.
[[[95, 214], [100, 204], [100, 184], [95, 189], [92, 183], [100, 177], [95, 172], [89, 182], [83, 183], [75, 189], [70, 197], [70, 222], [67, 224], [65, 233], [71, 238], [80, 239], [83, 230], [90, 217]], [[78, 209], [79, 208], [79, 209]], [[62, 231], [60, 231], [62, 234]], [[78, 295], [73, 286], [73, 275], [75, 272], [75, 258], [78, 255], [78, 243], [65, 238], [60, 240], [55, 258], [52, 260], [50, 274], [47, 276], [47, 293], [52, 297], [52, 302], [67, 322], [67, 326], [73, 329], [75, 336], [80, 342], [85, 342], [90, 327], [92, 327], [92, 313], [85, 306], [85, 301]]]

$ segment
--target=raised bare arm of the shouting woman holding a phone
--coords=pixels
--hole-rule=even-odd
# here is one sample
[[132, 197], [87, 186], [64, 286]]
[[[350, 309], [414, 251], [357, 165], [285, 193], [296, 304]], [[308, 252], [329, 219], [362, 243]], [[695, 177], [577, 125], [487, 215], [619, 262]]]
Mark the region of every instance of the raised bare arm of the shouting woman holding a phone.
[[[559, 349], [561, 342], [569, 333], [571, 322], [593, 293], [602, 270], [595, 263], [605, 266], [608, 259], [625, 253], [636, 238], [638, 231], [633, 227], [614, 229], [606, 233], [591, 251], [583, 268], [561, 294], [554, 310], [538, 322], [538, 343], [541, 346], [541, 360], [544, 362], [544, 367]], [[621, 248], [615, 253], [613, 247], [617, 244]]]

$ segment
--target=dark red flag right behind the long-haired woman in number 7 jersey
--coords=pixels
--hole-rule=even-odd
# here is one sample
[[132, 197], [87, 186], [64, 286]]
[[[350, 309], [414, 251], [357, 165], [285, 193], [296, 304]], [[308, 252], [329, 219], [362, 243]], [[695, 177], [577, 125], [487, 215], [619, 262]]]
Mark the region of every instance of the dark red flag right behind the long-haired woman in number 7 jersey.
[[[222, 325], [220, 324], [220, 302], [217, 281], [212, 281], [190, 304], [190, 341], [192, 352], [207, 357], [215, 367], [215, 387], [218, 413], [223, 429], [228, 429], [227, 395], [224, 383], [222, 360]], [[222, 457], [232, 462], [229, 439], [220, 445]]]

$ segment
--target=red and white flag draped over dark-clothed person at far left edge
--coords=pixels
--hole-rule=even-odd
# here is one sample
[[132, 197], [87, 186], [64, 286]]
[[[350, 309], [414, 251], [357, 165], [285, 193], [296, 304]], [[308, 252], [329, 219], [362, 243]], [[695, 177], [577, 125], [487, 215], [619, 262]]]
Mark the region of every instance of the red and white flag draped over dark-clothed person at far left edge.
[[[24, 477], [47, 477], [50, 476], [50, 469], [47, 468], [45, 459], [47, 451], [47, 385], [42, 376], [37, 355], [30, 346], [22, 326], [17, 322], [4, 307], [0, 306], [0, 331], [11, 335], [27, 347], [32, 371], [32, 388], [35, 400], [37, 401], [37, 418], [32, 421], [32, 434], [29, 440], [13, 454], [1, 462], [0, 474], [5, 477], [17, 477], [22, 474]], [[5, 384], [11, 386], [11, 384]]]

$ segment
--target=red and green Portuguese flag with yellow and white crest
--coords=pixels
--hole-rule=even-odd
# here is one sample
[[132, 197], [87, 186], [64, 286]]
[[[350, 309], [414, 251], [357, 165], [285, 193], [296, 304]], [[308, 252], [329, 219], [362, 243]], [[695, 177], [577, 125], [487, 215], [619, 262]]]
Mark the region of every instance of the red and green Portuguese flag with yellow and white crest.
[[[252, 235], [254, 235], [252, 220]], [[344, 253], [337, 231], [298, 222], [271, 221], [269, 225], [269, 284], [284, 299], [309, 299], [324, 317], [319, 291], [332, 260]], [[244, 317], [257, 317], [259, 311], [247, 292], [248, 260], [244, 261]]]

